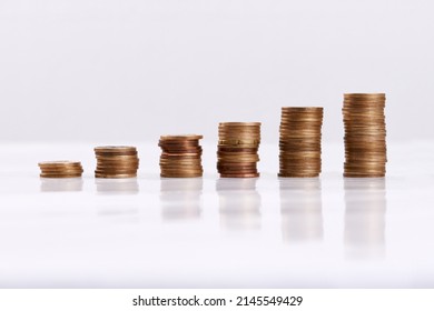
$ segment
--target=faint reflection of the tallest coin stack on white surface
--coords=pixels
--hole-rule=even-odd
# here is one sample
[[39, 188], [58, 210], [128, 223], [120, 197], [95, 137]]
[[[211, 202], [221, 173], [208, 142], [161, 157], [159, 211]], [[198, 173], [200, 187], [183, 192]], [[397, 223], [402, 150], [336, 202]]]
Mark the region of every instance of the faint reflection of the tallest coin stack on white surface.
[[347, 258], [385, 255], [386, 182], [384, 178], [344, 180]]

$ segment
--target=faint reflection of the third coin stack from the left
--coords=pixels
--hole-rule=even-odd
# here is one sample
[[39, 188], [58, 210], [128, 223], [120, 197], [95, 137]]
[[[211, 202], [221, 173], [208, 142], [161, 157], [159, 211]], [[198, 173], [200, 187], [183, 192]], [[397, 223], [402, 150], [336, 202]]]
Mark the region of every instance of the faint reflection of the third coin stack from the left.
[[200, 218], [201, 178], [161, 178], [160, 202], [164, 220]]

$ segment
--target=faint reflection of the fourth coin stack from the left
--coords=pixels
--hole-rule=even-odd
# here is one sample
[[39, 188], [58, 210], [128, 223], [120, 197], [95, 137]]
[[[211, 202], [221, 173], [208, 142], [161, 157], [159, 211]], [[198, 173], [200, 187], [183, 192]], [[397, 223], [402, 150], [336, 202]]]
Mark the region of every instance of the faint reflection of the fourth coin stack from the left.
[[220, 225], [229, 230], [260, 229], [260, 194], [251, 178], [217, 180]]

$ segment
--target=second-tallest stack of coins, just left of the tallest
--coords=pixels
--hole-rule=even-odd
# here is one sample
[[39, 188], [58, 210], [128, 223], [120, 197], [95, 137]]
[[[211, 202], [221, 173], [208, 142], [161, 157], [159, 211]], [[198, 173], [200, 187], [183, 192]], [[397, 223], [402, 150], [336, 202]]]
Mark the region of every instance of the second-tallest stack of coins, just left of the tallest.
[[322, 107], [283, 107], [278, 177], [318, 177], [320, 173]]

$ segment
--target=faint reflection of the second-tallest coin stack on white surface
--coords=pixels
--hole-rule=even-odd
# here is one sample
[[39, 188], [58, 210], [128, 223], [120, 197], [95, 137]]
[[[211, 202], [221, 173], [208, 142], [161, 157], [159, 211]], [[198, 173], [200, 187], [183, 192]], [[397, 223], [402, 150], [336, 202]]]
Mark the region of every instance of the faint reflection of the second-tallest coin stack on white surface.
[[279, 178], [284, 242], [323, 240], [323, 208], [318, 178]]

